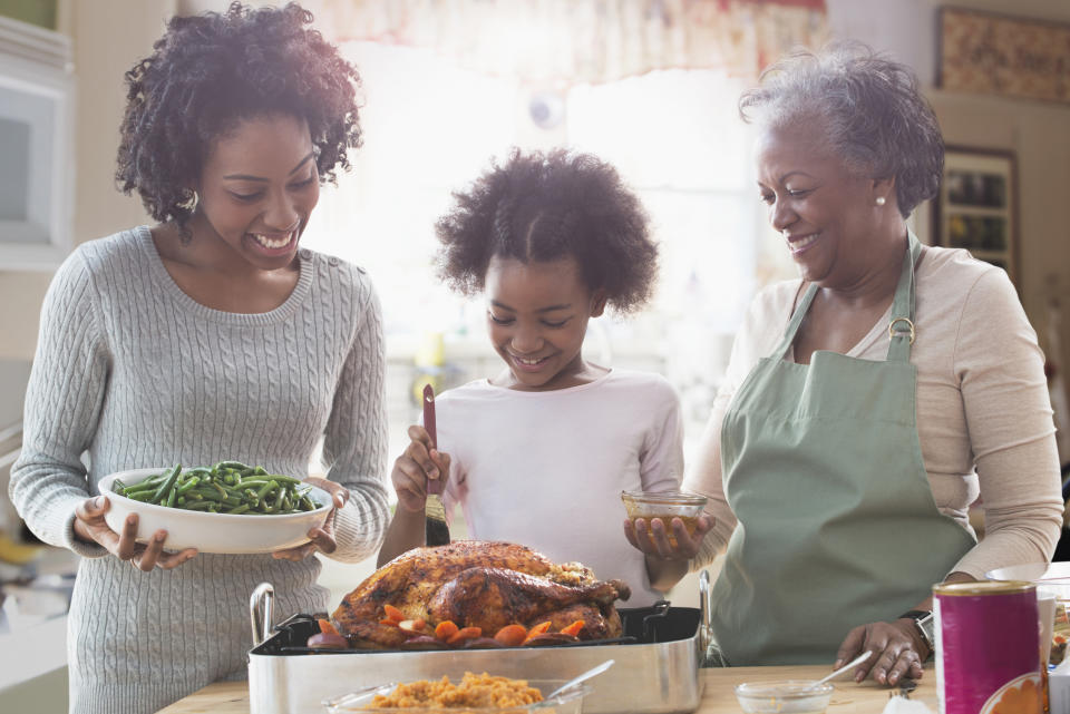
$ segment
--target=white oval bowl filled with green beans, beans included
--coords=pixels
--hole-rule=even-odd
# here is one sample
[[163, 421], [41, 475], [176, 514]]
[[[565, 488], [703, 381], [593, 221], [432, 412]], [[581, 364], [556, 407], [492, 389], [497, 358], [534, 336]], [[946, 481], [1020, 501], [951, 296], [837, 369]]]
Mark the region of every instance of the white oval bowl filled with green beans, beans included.
[[166, 530], [164, 548], [201, 552], [274, 552], [309, 541], [323, 524], [331, 496], [311, 483], [259, 466], [220, 461], [213, 466], [119, 471], [100, 479], [110, 508], [108, 527], [121, 532], [137, 514], [137, 540]]

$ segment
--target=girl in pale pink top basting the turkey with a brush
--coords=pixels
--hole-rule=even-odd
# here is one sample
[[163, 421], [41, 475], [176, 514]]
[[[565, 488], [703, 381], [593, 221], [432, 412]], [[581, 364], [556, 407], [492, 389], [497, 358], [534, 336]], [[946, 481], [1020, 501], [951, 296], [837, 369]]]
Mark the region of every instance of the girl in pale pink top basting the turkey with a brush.
[[592, 317], [606, 305], [634, 311], [651, 294], [658, 250], [646, 216], [611, 166], [564, 150], [514, 151], [455, 197], [437, 225], [440, 274], [484, 294], [505, 365], [440, 397], [440, 451], [422, 427], [409, 428], [379, 563], [424, 544], [427, 479], [447, 478], [447, 512], [459, 502], [474, 538], [578, 560], [648, 605], [687, 561], [629, 546], [620, 493], [679, 487], [679, 399], [659, 375], [582, 354]]

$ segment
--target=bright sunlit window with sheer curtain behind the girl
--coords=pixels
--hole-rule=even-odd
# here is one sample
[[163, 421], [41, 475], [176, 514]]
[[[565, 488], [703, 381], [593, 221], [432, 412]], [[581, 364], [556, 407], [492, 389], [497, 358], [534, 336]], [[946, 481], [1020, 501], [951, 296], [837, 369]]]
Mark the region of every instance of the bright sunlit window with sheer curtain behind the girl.
[[[750, 297], [792, 270], [766, 227], [736, 100], [767, 53], [818, 43], [821, 3], [307, 4], [361, 72], [366, 134], [351, 156], [353, 170], [322, 193], [304, 242], [362, 265], [376, 282], [398, 444], [415, 415], [407, 380], [429, 335], [441, 335], [455, 383], [499, 369], [484, 306], [453, 295], [434, 275], [435, 221], [450, 192], [464, 188], [490, 157], [513, 146], [558, 145], [617, 167], [650, 213], [662, 251], [651, 306], [628, 321], [594, 321], [587, 353], [667, 374], [683, 398], [689, 441], [698, 438]], [[526, 52], [503, 50], [513, 37], [504, 9], [514, 9], [522, 27], [547, 22], [560, 30], [554, 51], [542, 55], [545, 62], [531, 61], [539, 55], [533, 48], [553, 33], [536, 32], [542, 39], [529, 40]], [[576, 25], [577, 18], [588, 21]], [[587, 28], [586, 40], [577, 27]], [[496, 40], [485, 37], [492, 28]], [[367, 37], [376, 41], [346, 39]], [[719, 43], [722, 37], [731, 41]], [[483, 63], [490, 47], [504, 52], [494, 67]]]

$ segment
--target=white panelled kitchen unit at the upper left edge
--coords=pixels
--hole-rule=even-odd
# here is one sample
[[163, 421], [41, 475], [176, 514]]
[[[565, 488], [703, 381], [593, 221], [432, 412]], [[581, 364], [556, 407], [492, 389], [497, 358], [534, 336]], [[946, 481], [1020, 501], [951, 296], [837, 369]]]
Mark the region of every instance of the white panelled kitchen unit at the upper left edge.
[[55, 270], [70, 252], [70, 42], [0, 18], [0, 270]]

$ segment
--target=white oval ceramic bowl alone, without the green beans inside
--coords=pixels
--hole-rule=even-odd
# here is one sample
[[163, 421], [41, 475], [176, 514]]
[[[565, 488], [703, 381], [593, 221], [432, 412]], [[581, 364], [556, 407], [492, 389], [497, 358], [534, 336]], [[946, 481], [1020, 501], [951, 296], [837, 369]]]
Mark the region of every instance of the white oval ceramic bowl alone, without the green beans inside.
[[111, 530], [121, 532], [126, 517], [137, 514], [137, 540], [146, 542], [154, 532], [164, 529], [167, 531], [167, 540], [164, 541], [167, 550], [196, 548], [201, 552], [274, 552], [308, 542], [308, 532], [320, 526], [331, 509], [330, 495], [314, 486], [309, 496], [317, 503], [327, 506], [301, 514], [255, 516], [168, 508], [135, 501], [111, 491], [111, 482], [116, 479], [133, 486], [164, 470], [166, 469], [134, 469], [100, 479], [100, 493], [107, 496], [111, 503], [104, 514], [104, 519]]

